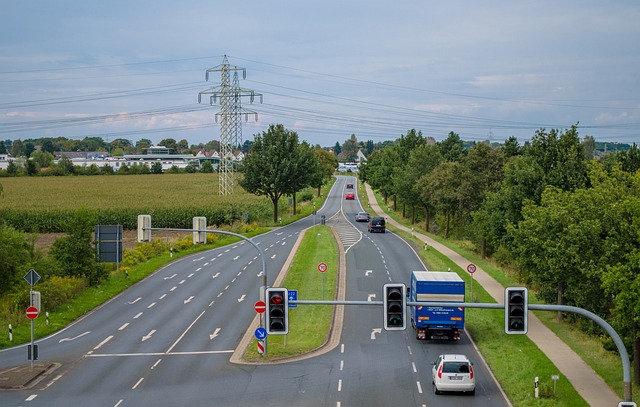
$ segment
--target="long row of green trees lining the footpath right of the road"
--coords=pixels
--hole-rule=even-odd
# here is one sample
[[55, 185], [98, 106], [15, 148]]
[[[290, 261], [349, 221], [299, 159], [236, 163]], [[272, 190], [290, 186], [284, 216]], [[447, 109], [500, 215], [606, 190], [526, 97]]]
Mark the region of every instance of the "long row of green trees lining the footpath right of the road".
[[640, 152], [595, 159], [594, 144], [577, 126], [468, 149], [455, 133], [435, 142], [411, 130], [374, 151], [360, 177], [412, 223], [472, 241], [539, 298], [605, 318], [633, 348], [640, 384]]

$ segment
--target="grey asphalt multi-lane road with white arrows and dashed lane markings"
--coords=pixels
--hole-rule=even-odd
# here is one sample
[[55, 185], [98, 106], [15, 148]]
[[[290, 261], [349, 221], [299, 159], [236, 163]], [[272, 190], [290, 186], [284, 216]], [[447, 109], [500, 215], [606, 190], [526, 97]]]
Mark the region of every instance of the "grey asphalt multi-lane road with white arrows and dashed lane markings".
[[[346, 298], [379, 300], [382, 285], [424, 269], [393, 233], [369, 234], [355, 222], [338, 177], [318, 210], [346, 252]], [[255, 316], [264, 256], [273, 284], [300, 231], [313, 217], [254, 238], [181, 258], [67, 329], [39, 341], [38, 363], [59, 363], [29, 389], [0, 392], [2, 406], [506, 406], [472, 342], [423, 342], [412, 329], [382, 330], [382, 307], [346, 306], [339, 344], [283, 364], [229, 359]], [[302, 299], [302, 298], [301, 298]], [[304, 305], [299, 305], [304, 306]], [[295, 312], [292, 310], [291, 312]], [[309, 333], [310, 335], [313, 332]], [[474, 362], [475, 396], [435, 395], [431, 362], [460, 352]], [[24, 347], [0, 352], [0, 368], [27, 363]]]

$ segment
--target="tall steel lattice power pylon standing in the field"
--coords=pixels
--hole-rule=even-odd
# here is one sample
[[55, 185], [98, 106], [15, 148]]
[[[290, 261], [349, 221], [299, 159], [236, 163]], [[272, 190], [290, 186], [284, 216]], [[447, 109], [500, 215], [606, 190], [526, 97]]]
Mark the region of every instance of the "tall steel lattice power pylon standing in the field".
[[[216, 113], [216, 123], [220, 119], [220, 162], [218, 164], [220, 195], [233, 194], [236, 176], [232, 158], [234, 149], [242, 143], [242, 116], [245, 117], [245, 121], [249, 121], [249, 115], [253, 115], [258, 121], [258, 113], [243, 109], [241, 99], [249, 97], [253, 103], [256, 96], [259, 96], [262, 103], [261, 93], [240, 87], [239, 71], [242, 71], [242, 79], [246, 79], [247, 70], [229, 65], [225, 55], [221, 65], [207, 69], [206, 73], [206, 80], [209, 81], [210, 72], [220, 72], [222, 78], [220, 85], [198, 93], [198, 103], [202, 103], [202, 95], [210, 95], [210, 105], [218, 104], [218, 101], [220, 104], [220, 112]], [[233, 72], [233, 81], [231, 72]]]

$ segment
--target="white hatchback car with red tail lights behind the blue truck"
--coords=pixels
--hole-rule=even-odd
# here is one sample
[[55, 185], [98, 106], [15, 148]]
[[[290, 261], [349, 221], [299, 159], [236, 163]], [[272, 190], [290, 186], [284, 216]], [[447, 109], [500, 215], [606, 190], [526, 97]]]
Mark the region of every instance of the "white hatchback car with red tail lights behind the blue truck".
[[465, 355], [444, 354], [438, 356], [431, 369], [433, 390], [476, 393], [476, 377], [473, 364]]

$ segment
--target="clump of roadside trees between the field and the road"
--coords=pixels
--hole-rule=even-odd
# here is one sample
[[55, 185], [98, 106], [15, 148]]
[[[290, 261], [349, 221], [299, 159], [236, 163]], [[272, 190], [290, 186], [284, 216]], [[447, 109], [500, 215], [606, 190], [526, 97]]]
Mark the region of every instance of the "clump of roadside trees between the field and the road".
[[331, 152], [300, 143], [298, 134], [281, 124], [272, 124], [256, 134], [249, 153], [242, 162], [240, 185], [249, 193], [267, 196], [273, 203], [273, 221], [278, 221], [278, 201], [293, 197], [306, 187], [318, 189], [333, 175], [338, 160]]

